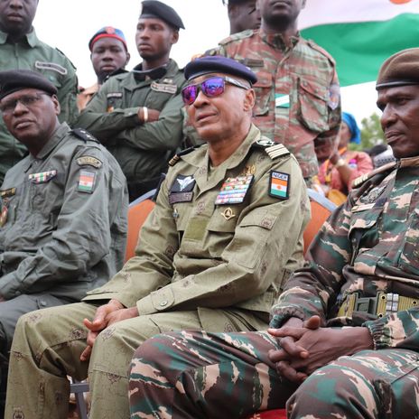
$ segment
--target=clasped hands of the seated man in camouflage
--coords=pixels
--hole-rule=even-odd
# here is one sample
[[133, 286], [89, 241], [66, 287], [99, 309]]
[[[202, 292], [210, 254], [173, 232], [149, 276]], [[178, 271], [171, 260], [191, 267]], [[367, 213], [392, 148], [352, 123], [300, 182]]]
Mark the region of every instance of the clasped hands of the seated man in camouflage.
[[301, 326], [287, 322], [282, 328], [268, 332], [280, 339], [282, 348], [271, 350], [269, 359], [275, 362], [281, 377], [297, 384], [341, 356], [374, 347], [367, 328], [322, 328], [319, 316], [312, 316]]

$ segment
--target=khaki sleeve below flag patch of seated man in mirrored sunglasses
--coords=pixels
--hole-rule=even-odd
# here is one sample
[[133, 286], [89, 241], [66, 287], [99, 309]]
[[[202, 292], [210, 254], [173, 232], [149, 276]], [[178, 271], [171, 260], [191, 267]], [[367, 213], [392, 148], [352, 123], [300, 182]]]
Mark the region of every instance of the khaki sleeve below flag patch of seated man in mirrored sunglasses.
[[[167, 284], [137, 302], [138, 312], [228, 307], [264, 293], [292, 258], [308, 220], [308, 200], [301, 171], [293, 157], [271, 169], [290, 173], [288, 200], [268, 196], [270, 172], [252, 186], [252, 200], [242, 212], [234, 237], [214, 265]], [[305, 202], [306, 205], [302, 205]], [[286, 233], [284, 232], [286, 226]]]

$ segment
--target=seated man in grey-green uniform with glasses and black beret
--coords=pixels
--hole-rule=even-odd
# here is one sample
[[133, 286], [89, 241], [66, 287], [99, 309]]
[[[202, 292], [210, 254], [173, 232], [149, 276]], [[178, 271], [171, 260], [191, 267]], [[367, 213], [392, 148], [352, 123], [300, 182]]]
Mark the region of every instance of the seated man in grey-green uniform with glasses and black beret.
[[60, 124], [57, 88], [31, 70], [0, 72], [0, 111], [29, 155], [0, 190], [0, 356], [25, 312], [79, 302], [124, 262], [126, 180], [95, 138]]

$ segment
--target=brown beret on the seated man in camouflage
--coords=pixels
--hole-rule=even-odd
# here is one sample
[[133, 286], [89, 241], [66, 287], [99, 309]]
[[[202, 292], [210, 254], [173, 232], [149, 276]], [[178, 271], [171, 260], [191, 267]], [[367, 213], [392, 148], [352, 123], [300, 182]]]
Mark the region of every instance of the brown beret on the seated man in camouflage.
[[419, 48], [399, 51], [384, 61], [377, 77], [377, 90], [419, 84]]

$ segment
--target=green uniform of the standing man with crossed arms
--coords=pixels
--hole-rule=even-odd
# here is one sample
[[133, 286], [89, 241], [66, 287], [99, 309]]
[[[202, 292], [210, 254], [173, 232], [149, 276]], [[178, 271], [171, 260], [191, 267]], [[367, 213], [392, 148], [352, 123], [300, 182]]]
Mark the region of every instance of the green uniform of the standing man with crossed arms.
[[[79, 116], [77, 126], [105, 144], [121, 165], [134, 199], [155, 187], [167, 171], [171, 154], [182, 143], [183, 73], [170, 60], [167, 67], [136, 70], [111, 77]], [[159, 110], [158, 121], [141, 123], [140, 107]]]

